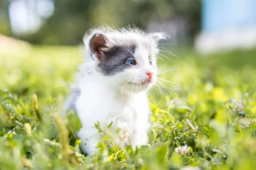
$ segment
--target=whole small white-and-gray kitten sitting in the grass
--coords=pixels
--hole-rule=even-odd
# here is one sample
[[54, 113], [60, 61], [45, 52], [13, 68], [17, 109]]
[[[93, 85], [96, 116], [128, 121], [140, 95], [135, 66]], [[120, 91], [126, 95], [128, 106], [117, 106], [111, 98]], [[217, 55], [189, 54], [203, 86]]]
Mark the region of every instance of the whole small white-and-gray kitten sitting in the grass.
[[162, 33], [137, 28], [93, 29], [84, 37], [85, 61], [64, 111], [74, 109], [82, 122], [77, 134], [89, 156], [97, 151], [103, 130], [120, 129], [114, 141], [132, 147], [148, 143], [147, 91], [157, 79], [157, 43]]

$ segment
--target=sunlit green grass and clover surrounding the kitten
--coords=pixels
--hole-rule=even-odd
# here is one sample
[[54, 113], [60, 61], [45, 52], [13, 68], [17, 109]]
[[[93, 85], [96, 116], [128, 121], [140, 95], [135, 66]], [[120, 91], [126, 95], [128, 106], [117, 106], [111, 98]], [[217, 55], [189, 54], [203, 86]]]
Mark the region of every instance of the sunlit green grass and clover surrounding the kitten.
[[[69, 112], [68, 123], [58, 116], [82, 59], [79, 48], [33, 46], [0, 53], [0, 169], [253, 170], [256, 50], [208, 56], [180, 48], [173, 52], [179, 56], [171, 56], [174, 62], [159, 65], [162, 71], [178, 70], [160, 76], [180, 85], [169, 85], [175, 94], [167, 98], [152, 92], [149, 144], [118, 150], [102, 141], [102, 151], [112, 153], [108, 161], [102, 151], [93, 157], [81, 153], [75, 113]], [[106, 134], [102, 140], [112, 139]], [[175, 152], [185, 144], [189, 153]]]

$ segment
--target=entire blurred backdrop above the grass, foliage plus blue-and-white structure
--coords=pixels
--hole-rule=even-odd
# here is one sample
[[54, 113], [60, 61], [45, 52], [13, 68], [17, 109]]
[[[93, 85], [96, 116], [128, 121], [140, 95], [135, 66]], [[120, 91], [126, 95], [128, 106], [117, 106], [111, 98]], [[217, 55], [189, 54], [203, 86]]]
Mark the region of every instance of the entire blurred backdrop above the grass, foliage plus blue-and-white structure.
[[134, 24], [209, 53], [255, 47], [255, 8], [254, 0], [1, 0], [0, 34], [37, 45], [80, 45], [89, 28]]

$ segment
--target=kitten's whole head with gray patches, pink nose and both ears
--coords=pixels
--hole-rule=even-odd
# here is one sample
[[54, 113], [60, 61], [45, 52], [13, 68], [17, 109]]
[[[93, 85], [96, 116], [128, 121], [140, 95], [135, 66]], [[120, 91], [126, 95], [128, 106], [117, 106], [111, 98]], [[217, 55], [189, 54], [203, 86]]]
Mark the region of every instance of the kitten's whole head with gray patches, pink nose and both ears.
[[157, 80], [157, 43], [161, 33], [138, 29], [96, 30], [85, 39], [95, 70], [114, 88], [138, 93]]

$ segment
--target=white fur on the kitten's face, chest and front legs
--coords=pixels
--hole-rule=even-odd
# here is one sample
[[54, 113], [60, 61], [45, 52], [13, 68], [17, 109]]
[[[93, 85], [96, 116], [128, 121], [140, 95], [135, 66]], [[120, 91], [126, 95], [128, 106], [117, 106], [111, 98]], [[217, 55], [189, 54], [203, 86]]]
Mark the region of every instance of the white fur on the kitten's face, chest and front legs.
[[[94, 123], [99, 121], [102, 130], [106, 130], [113, 121], [111, 130], [120, 129], [114, 141], [122, 147], [131, 144], [133, 147], [148, 143], [149, 107], [147, 90], [157, 79], [156, 57], [157, 48], [154, 40], [151, 40], [142, 32], [136, 30], [105, 32], [107, 37], [135, 38], [139, 47], [134, 53], [137, 65], [126, 69], [113, 76], [104, 76], [99, 73], [95, 65], [97, 60], [91, 59], [88, 46], [85, 54], [86, 62], [82, 65], [81, 74], [76, 86], [81, 93], [76, 99], [75, 108], [81, 119], [82, 128], [78, 133], [82, 140], [84, 152], [92, 156], [96, 153], [96, 146], [104, 135], [97, 133]], [[85, 39], [88, 44], [89, 38]], [[148, 51], [143, 46], [144, 42], [151, 41], [152, 62], [148, 62]], [[148, 71], [154, 72], [151, 83], [140, 85], [148, 75]], [[137, 83], [137, 84], [130, 84]]]

